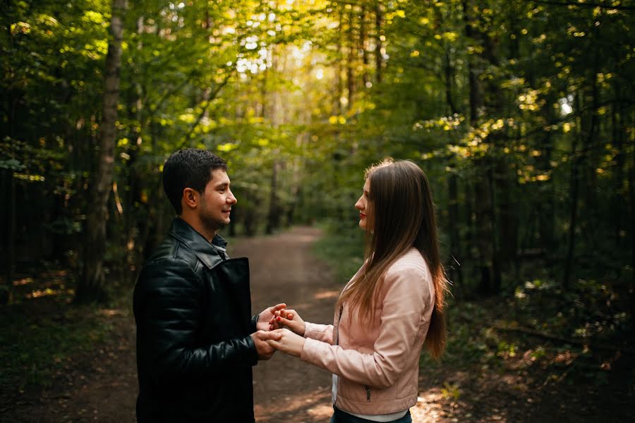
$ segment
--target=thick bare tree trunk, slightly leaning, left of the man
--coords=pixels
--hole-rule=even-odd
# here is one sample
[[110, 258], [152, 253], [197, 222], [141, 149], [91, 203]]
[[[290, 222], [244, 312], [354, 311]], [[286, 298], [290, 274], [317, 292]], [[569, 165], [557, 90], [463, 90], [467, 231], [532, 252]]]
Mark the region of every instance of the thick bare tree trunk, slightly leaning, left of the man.
[[119, 99], [119, 69], [121, 67], [121, 40], [126, 0], [112, 1], [110, 23], [111, 39], [106, 58], [104, 79], [104, 104], [99, 139], [99, 168], [90, 191], [89, 210], [86, 219], [86, 243], [82, 276], [78, 283], [75, 301], [102, 302], [106, 300], [104, 289], [104, 252], [106, 250], [106, 221], [108, 199], [114, 168], [115, 122]]

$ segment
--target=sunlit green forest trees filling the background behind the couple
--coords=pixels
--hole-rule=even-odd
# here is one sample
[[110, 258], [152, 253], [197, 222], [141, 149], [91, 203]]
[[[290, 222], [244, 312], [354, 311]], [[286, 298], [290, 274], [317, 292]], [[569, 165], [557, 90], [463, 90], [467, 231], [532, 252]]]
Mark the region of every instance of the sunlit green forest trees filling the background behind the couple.
[[106, 290], [131, 285], [167, 231], [164, 160], [199, 147], [229, 161], [229, 235], [320, 221], [351, 237], [364, 168], [411, 159], [455, 298], [593, 281], [635, 312], [630, 1], [129, 2], [114, 123], [111, 1], [2, 7], [5, 300], [42, 261], [87, 283], [114, 129]]

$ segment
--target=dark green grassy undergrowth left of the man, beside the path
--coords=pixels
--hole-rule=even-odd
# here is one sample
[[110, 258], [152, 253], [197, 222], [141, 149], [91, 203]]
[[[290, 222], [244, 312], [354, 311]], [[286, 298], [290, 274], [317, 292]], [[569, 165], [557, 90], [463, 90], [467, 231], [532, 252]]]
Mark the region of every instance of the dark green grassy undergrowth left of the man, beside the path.
[[112, 329], [99, 307], [71, 304], [68, 271], [42, 269], [14, 286], [15, 303], [0, 307], [0, 386], [9, 395], [52, 386]]

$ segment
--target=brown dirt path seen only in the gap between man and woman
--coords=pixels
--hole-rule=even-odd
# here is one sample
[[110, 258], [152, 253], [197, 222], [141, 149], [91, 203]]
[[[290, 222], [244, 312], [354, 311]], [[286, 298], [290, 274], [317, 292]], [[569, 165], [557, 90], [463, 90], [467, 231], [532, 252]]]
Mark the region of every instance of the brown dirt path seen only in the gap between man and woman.
[[[310, 252], [319, 236], [315, 228], [294, 228], [229, 249], [232, 257], [249, 257], [254, 313], [286, 302], [307, 321], [332, 321], [341, 283]], [[327, 422], [332, 415], [331, 374], [325, 370], [276, 353], [254, 367], [253, 380], [258, 423]]]

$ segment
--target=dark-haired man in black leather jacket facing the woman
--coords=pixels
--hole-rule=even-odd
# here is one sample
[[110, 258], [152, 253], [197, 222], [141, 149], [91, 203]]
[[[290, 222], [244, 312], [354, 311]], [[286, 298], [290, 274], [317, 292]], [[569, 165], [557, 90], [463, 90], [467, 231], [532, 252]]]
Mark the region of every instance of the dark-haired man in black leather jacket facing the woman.
[[178, 216], [135, 286], [139, 422], [254, 422], [251, 367], [274, 353], [267, 330], [285, 305], [250, 317], [248, 260], [217, 235], [236, 204], [226, 170], [200, 149], [164, 165]]

